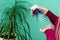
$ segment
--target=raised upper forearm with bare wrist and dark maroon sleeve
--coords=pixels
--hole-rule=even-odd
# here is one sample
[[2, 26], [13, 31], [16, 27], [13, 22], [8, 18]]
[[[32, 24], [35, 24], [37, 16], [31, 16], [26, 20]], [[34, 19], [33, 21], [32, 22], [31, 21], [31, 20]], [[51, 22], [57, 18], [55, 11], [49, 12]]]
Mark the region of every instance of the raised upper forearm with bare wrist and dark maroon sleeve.
[[50, 20], [51, 22], [55, 25], [55, 21], [58, 19], [58, 17], [52, 13], [50, 10], [43, 8], [43, 7], [39, 7], [39, 10], [44, 13]]

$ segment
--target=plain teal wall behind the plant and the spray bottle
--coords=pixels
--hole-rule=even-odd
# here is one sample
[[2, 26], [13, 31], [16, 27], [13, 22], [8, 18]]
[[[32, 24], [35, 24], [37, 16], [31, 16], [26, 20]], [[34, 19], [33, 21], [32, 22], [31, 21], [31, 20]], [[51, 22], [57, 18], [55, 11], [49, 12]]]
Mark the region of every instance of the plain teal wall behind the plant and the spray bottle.
[[[39, 6], [45, 7], [49, 10], [51, 10], [55, 15], [59, 16], [58, 13], [58, 5], [60, 5], [60, 0], [22, 0], [22, 1], [28, 1], [30, 6], [26, 6], [26, 8], [30, 8], [31, 6], [37, 4]], [[15, 4], [15, 0], [0, 0], [0, 20], [2, 19], [3, 11], [7, 7], [12, 7]], [[25, 5], [23, 3], [23, 5]], [[38, 16], [38, 22], [36, 20], [36, 17], [31, 16], [31, 12], [26, 13], [27, 21], [30, 25], [30, 31], [33, 40], [46, 40], [46, 36], [44, 33], [41, 33], [39, 31], [40, 28], [45, 28], [50, 22], [50, 20], [44, 15], [43, 17], [41, 15]], [[43, 19], [43, 20], [42, 20]], [[43, 25], [42, 25], [43, 24]]]

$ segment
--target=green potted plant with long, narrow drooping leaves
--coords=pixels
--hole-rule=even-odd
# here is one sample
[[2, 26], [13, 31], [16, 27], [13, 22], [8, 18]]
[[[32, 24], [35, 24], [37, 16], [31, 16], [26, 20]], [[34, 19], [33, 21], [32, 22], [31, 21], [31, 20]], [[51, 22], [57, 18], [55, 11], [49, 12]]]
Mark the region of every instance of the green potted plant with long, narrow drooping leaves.
[[30, 26], [26, 20], [25, 11], [28, 9], [23, 5], [26, 1], [16, 1], [11, 8], [6, 8], [0, 22], [0, 37], [13, 40], [32, 40]]

